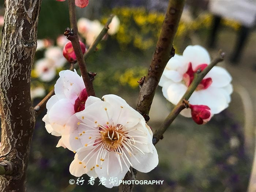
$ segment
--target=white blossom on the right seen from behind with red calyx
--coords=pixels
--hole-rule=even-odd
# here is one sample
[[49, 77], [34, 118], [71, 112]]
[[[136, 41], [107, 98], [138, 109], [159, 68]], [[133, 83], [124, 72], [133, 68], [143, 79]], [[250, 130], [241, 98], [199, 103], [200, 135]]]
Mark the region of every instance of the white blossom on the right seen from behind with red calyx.
[[[177, 105], [191, 84], [195, 72], [203, 70], [209, 63], [209, 53], [199, 45], [189, 45], [182, 55], [175, 54], [168, 61], [159, 82], [163, 96]], [[230, 94], [233, 92], [231, 80], [226, 69], [214, 66], [188, 99], [189, 103], [206, 105], [212, 114], [220, 113], [229, 106]], [[191, 110], [184, 109], [181, 114], [191, 117]]]

